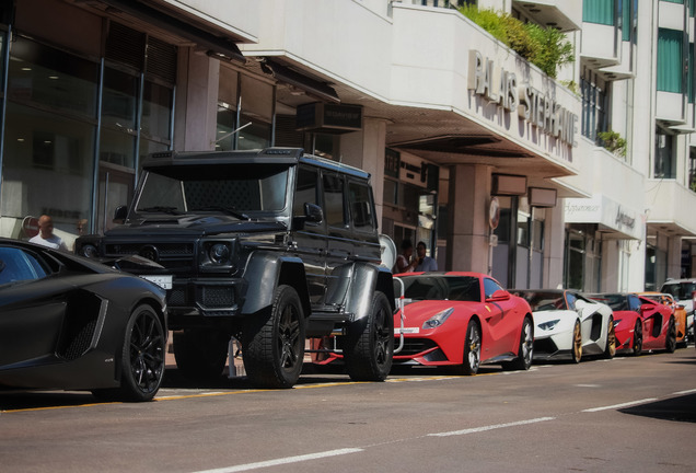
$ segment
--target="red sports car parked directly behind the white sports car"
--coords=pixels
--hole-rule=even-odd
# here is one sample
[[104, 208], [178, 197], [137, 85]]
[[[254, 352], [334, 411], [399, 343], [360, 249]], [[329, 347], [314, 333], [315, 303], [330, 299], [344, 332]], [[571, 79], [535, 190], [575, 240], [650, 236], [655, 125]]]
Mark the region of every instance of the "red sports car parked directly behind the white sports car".
[[590, 298], [614, 311], [617, 351], [634, 355], [652, 349], [674, 351], [674, 316], [669, 305], [640, 293], [598, 293]]

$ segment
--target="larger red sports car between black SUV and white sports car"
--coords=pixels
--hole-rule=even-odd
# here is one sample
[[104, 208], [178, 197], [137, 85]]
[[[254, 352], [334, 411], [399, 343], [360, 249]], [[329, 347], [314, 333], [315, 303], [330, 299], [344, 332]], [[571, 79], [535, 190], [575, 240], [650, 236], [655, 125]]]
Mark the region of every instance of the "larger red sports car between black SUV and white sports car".
[[534, 321], [523, 298], [479, 273], [396, 275], [396, 295], [401, 282], [394, 365], [460, 366], [465, 374], [482, 364], [529, 369]]

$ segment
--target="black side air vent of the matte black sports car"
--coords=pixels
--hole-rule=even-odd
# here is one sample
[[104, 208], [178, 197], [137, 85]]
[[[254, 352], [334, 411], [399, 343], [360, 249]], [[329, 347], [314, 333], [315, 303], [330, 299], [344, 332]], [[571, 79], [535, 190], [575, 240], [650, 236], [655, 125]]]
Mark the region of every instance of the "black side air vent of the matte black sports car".
[[60, 358], [72, 361], [90, 349], [101, 304], [100, 298], [83, 290], [77, 290], [68, 296], [66, 318], [56, 350]]

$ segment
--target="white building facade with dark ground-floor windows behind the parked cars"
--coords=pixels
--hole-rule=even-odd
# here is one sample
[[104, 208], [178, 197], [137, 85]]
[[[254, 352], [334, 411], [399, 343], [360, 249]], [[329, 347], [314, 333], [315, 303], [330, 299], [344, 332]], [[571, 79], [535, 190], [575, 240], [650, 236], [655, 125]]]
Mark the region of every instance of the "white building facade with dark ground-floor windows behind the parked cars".
[[149, 152], [290, 146], [370, 172], [381, 231], [440, 269], [691, 275], [693, 74], [658, 73], [691, 64], [688, 0], [478, 1], [562, 32], [558, 79], [455, 3], [0, 0], [0, 235], [108, 230]]

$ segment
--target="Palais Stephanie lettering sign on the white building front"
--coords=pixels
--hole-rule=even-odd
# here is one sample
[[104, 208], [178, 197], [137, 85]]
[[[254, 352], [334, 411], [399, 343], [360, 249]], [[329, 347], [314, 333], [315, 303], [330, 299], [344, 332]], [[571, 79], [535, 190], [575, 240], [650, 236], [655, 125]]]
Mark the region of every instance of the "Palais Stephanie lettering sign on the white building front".
[[517, 109], [520, 117], [546, 135], [575, 146], [578, 115], [562, 107], [548, 93], [534, 89], [529, 82], [519, 85], [514, 72], [496, 68], [492, 59], [475, 49], [469, 50], [468, 70], [468, 89], [476, 95], [508, 112]]

